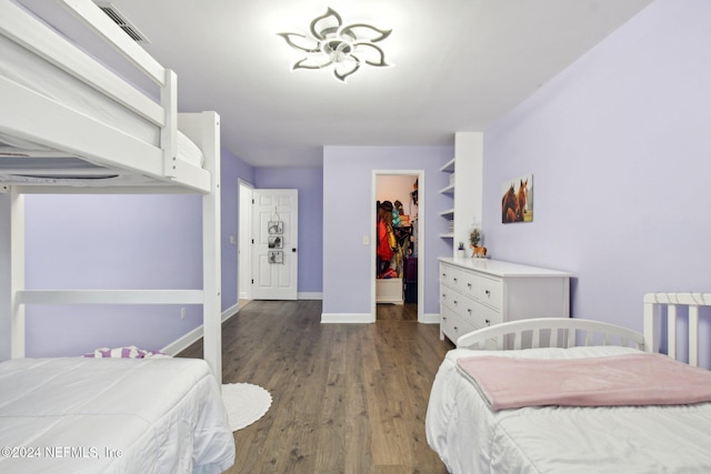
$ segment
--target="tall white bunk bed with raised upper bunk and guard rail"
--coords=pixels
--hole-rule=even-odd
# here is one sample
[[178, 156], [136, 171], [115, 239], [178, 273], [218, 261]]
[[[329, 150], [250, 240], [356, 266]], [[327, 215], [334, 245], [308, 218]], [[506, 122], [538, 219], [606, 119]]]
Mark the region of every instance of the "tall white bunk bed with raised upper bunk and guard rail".
[[[93, 2], [58, 3], [150, 78], [160, 102], [20, 4], [0, 1], [0, 188], [11, 206], [12, 356], [24, 355], [26, 304], [201, 304], [204, 359], [220, 382], [219, 117], [178, 113], [176, 74]], [[183, 149], [191, 160], [180, 158]], [[203, 289], [24, 290], [23, 194], [64, 192], [202, 194]]]

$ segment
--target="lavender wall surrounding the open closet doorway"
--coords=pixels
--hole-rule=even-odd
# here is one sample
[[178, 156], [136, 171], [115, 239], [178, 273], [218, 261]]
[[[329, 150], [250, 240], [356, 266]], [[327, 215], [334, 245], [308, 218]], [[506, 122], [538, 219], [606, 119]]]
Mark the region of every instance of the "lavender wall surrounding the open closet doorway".
[[[448, 198], [439, 190], [449, 177], [440, 168], [454, 155], [453, 147], [326, 147], [323, 150], [323, 313], [369, 314], [371, 311], [371, 190], [373, 170], [424, 170], [425, 268], [424, 313], [439, 313], [438, 256], [450, 255], [451, 242], [439, 212]], [[422, 189], [422, 188], [421, 188]], [[449, 206], [451, 206], [451, 199]]]

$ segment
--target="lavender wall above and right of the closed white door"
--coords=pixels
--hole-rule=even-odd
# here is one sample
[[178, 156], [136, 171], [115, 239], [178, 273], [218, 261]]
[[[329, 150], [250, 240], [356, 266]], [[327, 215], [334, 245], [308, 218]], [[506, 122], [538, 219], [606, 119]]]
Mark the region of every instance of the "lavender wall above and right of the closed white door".
[[323, 170], [320, 168], [258, 168], [260, 189], [299, 190], [299, 293], [323, 288]]

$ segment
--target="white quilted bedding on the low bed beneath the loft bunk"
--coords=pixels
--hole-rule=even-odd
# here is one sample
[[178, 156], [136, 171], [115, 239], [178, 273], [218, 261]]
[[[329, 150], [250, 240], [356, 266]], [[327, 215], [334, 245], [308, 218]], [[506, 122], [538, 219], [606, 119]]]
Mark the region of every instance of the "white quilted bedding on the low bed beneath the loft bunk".
[[221, 473], [234, 460], [202, 360], [0, 363], [0, 472]]

